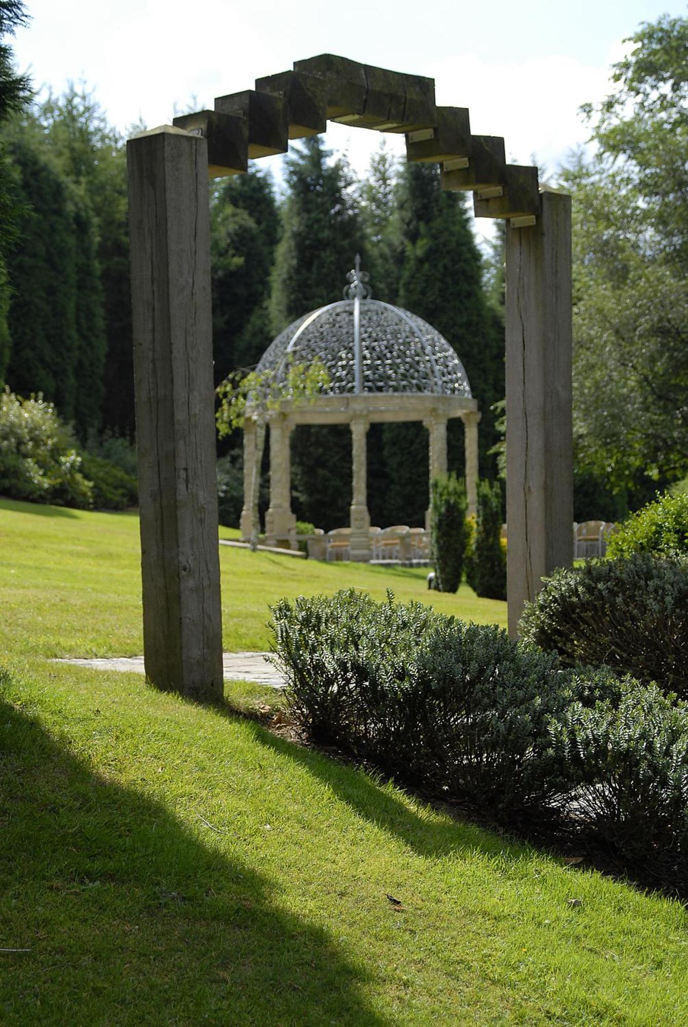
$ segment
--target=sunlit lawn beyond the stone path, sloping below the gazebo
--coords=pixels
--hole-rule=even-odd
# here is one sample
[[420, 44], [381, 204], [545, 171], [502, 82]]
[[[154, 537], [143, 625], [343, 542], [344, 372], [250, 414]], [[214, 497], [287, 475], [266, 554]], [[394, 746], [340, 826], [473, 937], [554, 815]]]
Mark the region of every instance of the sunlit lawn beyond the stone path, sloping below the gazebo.
[[[226, 538], [237, 532], [221, 529]], [[393, 588], [464, 620], [506, 623], [506, 604], [429, 593], [422, 568], [323, 564], [220, 547], [224, 646], [268, 647], [268, 605], [280, 596]], [[139, 519], [0, 500], [2, 634], [14, 652], [132, 656], [143, 651]], [[0, 649], [0, 652], [2, 650]]]

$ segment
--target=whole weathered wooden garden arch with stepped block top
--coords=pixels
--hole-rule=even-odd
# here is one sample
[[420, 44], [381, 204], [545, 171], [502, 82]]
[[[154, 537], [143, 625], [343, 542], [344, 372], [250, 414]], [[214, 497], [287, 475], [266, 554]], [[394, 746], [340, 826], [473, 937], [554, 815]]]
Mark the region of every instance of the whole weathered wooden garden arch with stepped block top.
[[144, 653], [157, 686], [222, 694], [208, 175], [245, 173], [328, 120], [404, 132], [476, 217], [506, 221], [509, 632], [541, 578], [571, 563], [571, 200], [507, 164], [430, 78], [322, 54], [129, 140], [129, 236]]

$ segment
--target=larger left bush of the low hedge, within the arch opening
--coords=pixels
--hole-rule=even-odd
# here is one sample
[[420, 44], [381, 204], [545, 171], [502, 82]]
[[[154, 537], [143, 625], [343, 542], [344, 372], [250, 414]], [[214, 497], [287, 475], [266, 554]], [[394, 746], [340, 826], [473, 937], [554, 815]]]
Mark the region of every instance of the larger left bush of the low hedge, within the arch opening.
[[550, 719], [618, 689], [495, 626], [391, 597], [282, 600], [272, 614], [288, 700], [313, 740], [509, 823], [568, 790], [553, 772]]

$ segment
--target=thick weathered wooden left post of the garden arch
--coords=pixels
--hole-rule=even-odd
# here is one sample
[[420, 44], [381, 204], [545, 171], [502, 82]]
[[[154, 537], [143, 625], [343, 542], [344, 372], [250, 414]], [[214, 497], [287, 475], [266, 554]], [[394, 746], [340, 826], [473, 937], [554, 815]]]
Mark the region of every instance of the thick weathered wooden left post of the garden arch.
[[146, 675], [222, 695], [207, 145], [127, 144]]

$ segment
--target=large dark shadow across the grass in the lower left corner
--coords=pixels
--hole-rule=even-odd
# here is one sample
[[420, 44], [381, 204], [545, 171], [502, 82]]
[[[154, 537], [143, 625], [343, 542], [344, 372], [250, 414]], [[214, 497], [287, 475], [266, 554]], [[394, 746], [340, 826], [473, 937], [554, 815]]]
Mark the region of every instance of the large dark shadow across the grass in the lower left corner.
[[0, 831], [3, 1027], [385, 1023], [269, 879], [2, 700]]

